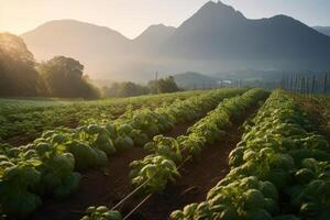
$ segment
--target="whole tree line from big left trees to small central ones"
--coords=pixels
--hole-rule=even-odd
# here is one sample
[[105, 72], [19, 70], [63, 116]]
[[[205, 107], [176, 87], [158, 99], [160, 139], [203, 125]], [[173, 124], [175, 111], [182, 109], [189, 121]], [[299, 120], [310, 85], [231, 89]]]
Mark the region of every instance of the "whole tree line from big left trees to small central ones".
[[55, 56], [37, 63], [24, 41], [13, 34], [0, 33], [0, 96], [99, 98], [132, 97], [178, 91], [174, 77], [151, 80], [147, 85], [132, 81], [114, 82], [101, 91], [84, 75], [78, 61]]

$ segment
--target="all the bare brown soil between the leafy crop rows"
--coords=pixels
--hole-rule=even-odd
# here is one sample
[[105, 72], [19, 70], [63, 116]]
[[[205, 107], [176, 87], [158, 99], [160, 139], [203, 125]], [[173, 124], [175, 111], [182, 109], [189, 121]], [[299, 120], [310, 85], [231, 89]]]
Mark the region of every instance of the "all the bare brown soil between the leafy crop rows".
[[[229, 172], [228, 155], [241, 140], [240, 125], [251, 117], [256, 108], [246, 111], [245, 116], [233, 123], [227, 131], [227, 139], [212, 146], [206, 146], [198, 158], [182, 166], [182, 177], [175, 185], [168, 186], [164, 194], [153, 195], [130, 219], [163, 220], [176, 209], [185, 205], [202, 201], [207, 191], [213, 187]], [[195, 122], [177, 125], [174, 131], [164, 133], [165, 136], [176, 138], [185, 134]], [[32, 220], [76, 220], [84, 216], [89, 206], [106, 205], [113, 207], [132, 191], [129, 173], [130, 163], [141, 160], [148, 152], [142, 147], [134, 147], [110, 157], [108, 170], [91, 169], [82, 173], [82, 180], [78, 191], [64, 201], [45, 199], [41, 209], [32, 216]], [[143, 198], [130, 198], [120, 211], [128, 213]]]

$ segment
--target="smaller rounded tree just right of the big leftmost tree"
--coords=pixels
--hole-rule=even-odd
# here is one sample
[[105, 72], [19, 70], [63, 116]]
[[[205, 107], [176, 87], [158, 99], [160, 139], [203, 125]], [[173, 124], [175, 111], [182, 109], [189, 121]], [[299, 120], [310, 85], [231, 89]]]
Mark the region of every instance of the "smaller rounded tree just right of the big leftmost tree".
[[82, 76], [84, 65], [74, 58], [55, 56], [40, 64], [38, 70], [52, 96], [64, 98], [99, 96], [98, 90]]

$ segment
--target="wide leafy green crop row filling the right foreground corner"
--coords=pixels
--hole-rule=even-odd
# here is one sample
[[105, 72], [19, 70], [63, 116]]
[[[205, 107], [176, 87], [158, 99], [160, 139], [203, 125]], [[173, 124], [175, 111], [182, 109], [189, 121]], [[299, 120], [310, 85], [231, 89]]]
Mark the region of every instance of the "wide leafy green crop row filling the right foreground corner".
[[311, 117], [274, 91], [245, 124], [227, 177], [169, 219], [330, 219], [330, 146]]

